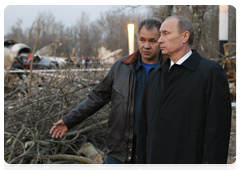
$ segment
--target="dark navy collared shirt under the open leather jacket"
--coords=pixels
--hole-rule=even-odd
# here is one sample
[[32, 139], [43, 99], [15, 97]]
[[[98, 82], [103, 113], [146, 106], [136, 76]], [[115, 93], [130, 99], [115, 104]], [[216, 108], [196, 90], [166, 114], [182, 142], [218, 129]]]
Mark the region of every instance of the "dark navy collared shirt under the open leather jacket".
[[[158, 61], [157, 66], [161, 64], [161, 58]], [[135, 71], [136, 71], [136, 86], [135, 86], [135, 101], [134, 101], [134, 135], [138, 133], [138, 122], [140, 117], [141, 105], [142, 105], [142, 97], [144, 93], [145, 84], [151, 72], [155, 67], [152, 67], [148, 74], [146, 75], [146, 69], [141, 62], [141, 54], [138, 56], [138, 61], [136, 63]]]

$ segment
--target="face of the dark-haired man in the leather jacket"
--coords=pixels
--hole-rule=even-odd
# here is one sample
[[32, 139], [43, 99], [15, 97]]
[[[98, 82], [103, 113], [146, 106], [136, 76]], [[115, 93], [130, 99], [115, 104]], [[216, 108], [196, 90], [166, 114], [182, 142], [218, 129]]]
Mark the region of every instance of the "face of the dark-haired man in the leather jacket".
[[146, 29], [145, 25], [141, 28], [138, 35], [138, 48], [141, 59], [144, 63], [152, 64], [158, 62], [160, 46], [157, 42], [159, 31], [157, 27]]

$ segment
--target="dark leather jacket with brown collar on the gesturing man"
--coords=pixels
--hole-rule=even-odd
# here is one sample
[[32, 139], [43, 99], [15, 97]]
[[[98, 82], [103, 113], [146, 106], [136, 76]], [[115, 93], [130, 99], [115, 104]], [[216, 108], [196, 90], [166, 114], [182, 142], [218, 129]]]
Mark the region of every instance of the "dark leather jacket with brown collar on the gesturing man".
[[138, 55], [139, 50], [116, 61], [87, 99], [62, 118], [71, 129], [111, 101], [107, 154], [122, 162], [132, 159], [135, 64]]

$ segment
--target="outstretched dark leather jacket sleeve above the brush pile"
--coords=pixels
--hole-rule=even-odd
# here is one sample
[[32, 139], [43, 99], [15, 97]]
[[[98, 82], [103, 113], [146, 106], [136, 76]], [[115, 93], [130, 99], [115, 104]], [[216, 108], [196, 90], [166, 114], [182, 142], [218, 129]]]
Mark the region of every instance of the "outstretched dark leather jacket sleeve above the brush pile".
[[115, 65], [116, 63], [105, 78], [93, 88], [87, 98], [62, 118], [68, 130], [93, 115], [111, 100]]

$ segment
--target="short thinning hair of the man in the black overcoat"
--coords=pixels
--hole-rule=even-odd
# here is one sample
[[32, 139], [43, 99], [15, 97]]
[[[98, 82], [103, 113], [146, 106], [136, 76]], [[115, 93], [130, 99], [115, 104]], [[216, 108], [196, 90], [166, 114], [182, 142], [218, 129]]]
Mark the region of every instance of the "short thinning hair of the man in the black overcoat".
[[190, 33], [189, 39], [188, 39], [188, 44], [191, 47], [193, 45], [193, 41], [194, 41], [194, 26], [192, 24], [192, 22], [184, 16], [180, 16], [180, 15], [174, 15], [174, 16], [170, 16], [169, 18], [177, 18], [178, 19], [178, 31], [180, 33], [183, 33], [184, 31], [188, 31]]

